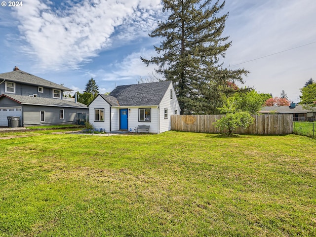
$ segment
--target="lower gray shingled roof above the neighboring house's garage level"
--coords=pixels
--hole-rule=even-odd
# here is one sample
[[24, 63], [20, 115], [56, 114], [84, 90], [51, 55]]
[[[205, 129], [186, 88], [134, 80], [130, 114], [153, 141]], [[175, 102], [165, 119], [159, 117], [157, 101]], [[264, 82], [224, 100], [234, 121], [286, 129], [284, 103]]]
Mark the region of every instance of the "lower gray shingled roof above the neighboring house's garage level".
[[7, 97], [15, 100], [22, 105], [39, 105], [39, 106], [54, 106], [54, 107], [71, 107], [71, 108], [87, 108], [86, 105], [79, 102], [75, 103], [67, 100], [60, 99], [49, 99], [41, 97], [32, 97], [25, 95], [14, 95], [14, 94], [1, 94], [1, 97]]

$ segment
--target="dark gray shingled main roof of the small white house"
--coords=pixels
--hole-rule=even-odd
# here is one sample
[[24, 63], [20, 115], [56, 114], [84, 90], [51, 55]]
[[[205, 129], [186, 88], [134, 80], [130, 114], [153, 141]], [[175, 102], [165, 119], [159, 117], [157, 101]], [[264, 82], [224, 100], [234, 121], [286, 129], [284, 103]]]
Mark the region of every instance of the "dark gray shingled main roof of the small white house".
[[119, 106], [158, 106], [171, 81], [119, 85], [109, 95], [117, 98]]

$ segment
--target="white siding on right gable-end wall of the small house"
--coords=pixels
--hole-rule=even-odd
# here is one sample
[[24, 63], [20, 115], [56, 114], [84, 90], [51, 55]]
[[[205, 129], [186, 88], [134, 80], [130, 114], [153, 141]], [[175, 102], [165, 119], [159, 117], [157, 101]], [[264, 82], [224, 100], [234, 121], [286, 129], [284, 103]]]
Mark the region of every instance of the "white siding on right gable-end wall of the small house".
[[[172, 89], [172, 99], [170, 98], [170, 89]], [[168, 110], [167, 119], [164, 118], [164, 109]], [[159, 133], [171, 130], [170, 118], [171, 115], [174, 115], [175, 110], [177, 111], [177, 114], [180, 114], [180, 106], [171, 83], [159, 105]]]

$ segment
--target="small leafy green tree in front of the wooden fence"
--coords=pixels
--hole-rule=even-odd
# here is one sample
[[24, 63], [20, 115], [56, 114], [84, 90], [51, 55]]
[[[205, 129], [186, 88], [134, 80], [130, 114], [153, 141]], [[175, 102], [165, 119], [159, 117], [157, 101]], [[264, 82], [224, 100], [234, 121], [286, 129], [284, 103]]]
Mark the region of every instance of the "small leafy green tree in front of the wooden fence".
[[219, 108], [219, 110], [226, 113], [226, 116], [218, 119], [213, 125], [218, 127], [221, 131], [228, 130], [228, 135], [230, 136], [237, 127], [245, 129], [254, 121], [254, 118], [250, 116], [249, 112], [236, 109], [233, 99], [228, 99], [227, 105], [224, 105], [223, 108]]

